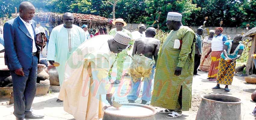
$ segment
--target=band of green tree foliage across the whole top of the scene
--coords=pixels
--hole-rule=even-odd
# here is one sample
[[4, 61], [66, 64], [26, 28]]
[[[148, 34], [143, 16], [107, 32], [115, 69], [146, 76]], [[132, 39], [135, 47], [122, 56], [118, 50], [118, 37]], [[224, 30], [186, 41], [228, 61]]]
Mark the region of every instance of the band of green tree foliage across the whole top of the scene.
[[[0, 17], [14, 13], [23, 0], [0, 0]], [[37, 11], [73, 12], [112, 18], [113, 0], [27, 0]], [[186, 26], [250, 27], [256, 26], [256, 0], [116, 0], [115, 16], [129, 23], [146, 23], [166, 30], [166, 16], [170, 11], [183, 14]]]

